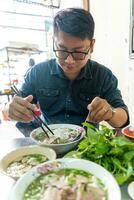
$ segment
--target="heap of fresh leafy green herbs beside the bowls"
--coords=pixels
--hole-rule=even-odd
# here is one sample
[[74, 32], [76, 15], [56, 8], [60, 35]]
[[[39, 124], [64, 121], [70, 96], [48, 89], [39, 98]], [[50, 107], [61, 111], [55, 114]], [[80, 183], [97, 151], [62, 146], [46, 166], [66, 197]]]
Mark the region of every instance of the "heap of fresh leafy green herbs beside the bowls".
[[113, 129], [104, 125], [96, 129], [84, 122], [83, 126], [87, 129], [86, 138], [65, 157], [96, 162], [110, 171], [120, 185], [134, 177], [134, 143], [123, 135], [117, 137]]

